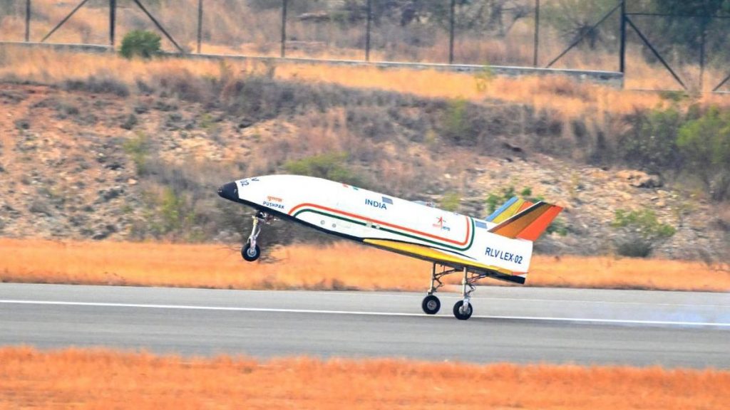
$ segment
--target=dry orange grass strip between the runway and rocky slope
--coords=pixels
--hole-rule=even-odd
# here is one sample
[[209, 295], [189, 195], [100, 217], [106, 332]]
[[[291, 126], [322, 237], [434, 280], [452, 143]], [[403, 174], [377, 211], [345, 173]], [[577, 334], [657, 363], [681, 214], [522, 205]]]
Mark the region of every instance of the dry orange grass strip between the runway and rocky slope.
[[[431, 271], [427, 262], [347, 242], [266, 252], [272, 263], [246, 263], [239, 250], [215, 244], [0, 239], [0, 282], [424, 290]], [[458, 282], [456, 276], [451, 283]], [[528, 284], [725, 292], [730, 290], [730, 272], [676, 260], [536, 256]]]

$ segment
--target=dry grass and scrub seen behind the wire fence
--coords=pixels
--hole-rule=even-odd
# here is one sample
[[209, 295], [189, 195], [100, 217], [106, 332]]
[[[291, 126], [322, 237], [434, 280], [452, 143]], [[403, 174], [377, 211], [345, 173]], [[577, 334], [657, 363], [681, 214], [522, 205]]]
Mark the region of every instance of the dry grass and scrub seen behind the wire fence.
[[[22, 2], [6, 1], [5, 15], [0, 18], [0, 39], [21, 40], [25, 31]], [[394, 3], [394, 2], [393, 2]], [[434, 2], [435, 3], [435, 2]], [[469, 9], [478, 4], [466, 2], [466, 7], [458, 7], [457, 20], [471, 20], [467, 17]], [[474, 2], [477, 3], [477, 2]], [[395, 3], [394, 3], [395, 4]], [[491, 12], [501, 10], [499, 18], [490, 20], [486, 26], [474, 28], [457, 28], [455, 58], [461, 63], [492, 63], [497, 65], [531, 66], [533, 53], [534, 20], [532, 19], [532, 1], [510, 1], [510, 7], [504, 3], [500, 9], [499, 2], [490, 3]], [[38, 40], [45, 36], [55, 24], [64, 18], [75, 6], [72, 2], [57, 0], [33, 1], [33, 18], [31, 22], [31, 39]], [[183, 49], [196, 49], [196, 0], [150, 1], [147, 3], [153, 14], [163, 26], [174, 36]], [[343, 8], [344, 7], [344, 8]], [[364, 58], [364, 0], [348, 1], [345, 6], [338, 1], [298, 1], [289, 4], [287, 37], [288, 56], [318, 58]], [[400, 20], [399, 12], [395, 15], [381, 16], [377, 4], [374, 10], [376, 18], [372, 28], [372, 60], [391, 61], [447, 61], [449, 35], [445, 22], [434, 23], [429, 18], [416, 18], [408, 24]], [[572, 42], [570, 36], [561, 33], [551, 19], [555, 11], [545, 13], [546, 9], [556, 4], [544, 4], [542, 24], [540, 28], [539, 62], [545, 64]], [[599, 6], [600, 7], [600, 6]], [[486, 9], [489, 7], [483, 7]], [[520, 15], [515, 17], [508, 9]], [[397, 7], [396, 7], [397, 9]], [[558, 10], [560, 6], [558, 6]], [[591, 12], [591, 7], [580, 12]], [[525, 11], [523, 14], [519, 10]], [[395, 10], [391, 10], [393, 12]], [[429, 13], [434, 10], [423, 10]], [[307, 20], [304, 15], [324, 13], [328, 18]], [[466, 14], [464, 14], [466, 13]], [[600, 13], [602, 14], [602, 13]], [[595, 15], [593, 18], [598, 18]], [[482, 18], [484, 18], [483, 16]], [[584, 16], [580, 20], [590, 21], [593, 18]], [[416, 21], [418, 20], [418, 21]], [[215, 1], [205, 4], [203, 20], [204, 53], [229, 53], [249, 55], [278, 55], [280, 39], [280, 2], [277, 1]], [[496, 28], [495, 23], [508, 27]], [[134, 4], [120, 3], [117, 12], [117, 32], [120, 39], [127, 31], [137, 28], [154, 30], [153, 24], [147, 20]], [[484, 23], [482, 23], [484, 24]], [[618, 66], [618, 18], [610, 19], [600, 28], [604, 31], [604, 39], [594, 48], [585, 44], [577, 47], [558, 61], [556, 66], [572, 69], [613, 70]], [[108, 43], [108, 9], [105, 4], [88, 4], [66, 25], [58, 30], [51, 42], [84, 42], [93, 44]], [[637, 39], [629, 36], [629, 77], [630, 88], [678, 88], [666, 70], [658, 63], [646, 63], [644, 47]], [[633, 41], [633, 42], [631, 42]], [[585, 43], [585, 42], [584, 42]], [[173, 50], [172, 43], [164, 41], [167, 50]], [[666, 55], [665, 55], [666, 57]], [[694, 87], [699, 78], [699, 67], [694, 62], [684, 61], [690, 58], [682, 53], [672, 53], [670, 61], [690, 87]], [[676, 60], [676, 61], [675, 61]], [[705, 88], [711, 88], [726, 74], [719, 62], [705, 73]]]

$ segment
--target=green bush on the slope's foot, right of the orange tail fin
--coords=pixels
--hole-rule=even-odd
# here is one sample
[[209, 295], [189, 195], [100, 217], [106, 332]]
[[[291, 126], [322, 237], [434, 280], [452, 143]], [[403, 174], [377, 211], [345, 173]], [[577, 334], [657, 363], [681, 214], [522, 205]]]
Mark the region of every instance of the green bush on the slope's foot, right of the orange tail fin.
[[672, 225], [659, 222], [656, 213], [651, 209], [618, 209], [611, 225], [622, 231], [616, 249], [619, 255], [634, 258], [646, 258], [656, 244], [677, 232]]

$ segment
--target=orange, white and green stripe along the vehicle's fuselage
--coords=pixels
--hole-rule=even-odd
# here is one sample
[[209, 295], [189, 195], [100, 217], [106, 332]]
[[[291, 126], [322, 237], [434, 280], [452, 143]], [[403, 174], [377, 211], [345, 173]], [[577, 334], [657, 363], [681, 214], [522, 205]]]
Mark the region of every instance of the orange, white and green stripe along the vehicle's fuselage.
[[368, 224], [380, 225], [381, 231], [387, 231], [395, 233], [399, 236], [404, 236], [410, 239], [417, 239], [419, 241], [429, 242], [436, 244], [440, 247], [446, 247], [451, 250], [465, 251], [469, 250], [474, 243], [474, 220], [471, 217], [464, 216], [466, 219], [466, 237], [463, 241], [456, 241], [453, 239], [444, 238], [442, 236], [433, 235], [431, 233], [416, 231], [415, 229], [406, 228], [404, 226], [394, 225], [381, 220], [375, 220], [373, 218], [364, 217], [358, 214], [345, 212], [339, 209], [329, 208], [327, 206], [321, 206], [318, 204], [299, 204], [294, 206], [289, 215], [295, 217], [302, 212], [314, 212], [316, 214], [323, 214], [328, 217], [334, 217], [339, 220], [345, 220], [350, 223], [357, 225], [367, 226]]

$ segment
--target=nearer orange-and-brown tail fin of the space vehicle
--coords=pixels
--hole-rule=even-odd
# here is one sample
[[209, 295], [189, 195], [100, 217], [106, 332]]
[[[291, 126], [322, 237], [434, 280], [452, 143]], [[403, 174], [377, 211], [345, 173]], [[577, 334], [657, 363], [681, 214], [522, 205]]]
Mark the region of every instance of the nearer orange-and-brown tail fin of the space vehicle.
[[504, 220], [489, 231], [507, 238], [537, 241], [562, 210], [561, 206], [540, 201]]

